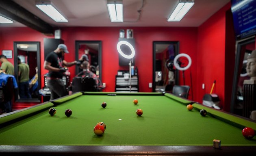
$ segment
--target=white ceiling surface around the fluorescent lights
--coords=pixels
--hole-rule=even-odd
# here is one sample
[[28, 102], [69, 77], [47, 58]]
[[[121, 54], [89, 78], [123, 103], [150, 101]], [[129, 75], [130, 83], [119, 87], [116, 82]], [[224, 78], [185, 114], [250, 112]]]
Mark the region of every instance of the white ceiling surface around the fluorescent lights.
[[[51, 0], [57, 6], [68, 23], [57, 23], [35, 6], [35, 0], [13, 0], [35, 14], [45, 22], [56, 27], [66, 26], [167, 26], [197, 27], [216, 13], [230, 0], [194, 0], [195, 4], [180, 22], [167, 22], [167, 17], [174, 10], [178, 0], [144, 0], [141, 17], [139, 10], [143, 0], [123, 0], [124, 22], [111, 23], [106, 0]], [[0, 26], [24, 26], [20, 23], [0, 24]]]

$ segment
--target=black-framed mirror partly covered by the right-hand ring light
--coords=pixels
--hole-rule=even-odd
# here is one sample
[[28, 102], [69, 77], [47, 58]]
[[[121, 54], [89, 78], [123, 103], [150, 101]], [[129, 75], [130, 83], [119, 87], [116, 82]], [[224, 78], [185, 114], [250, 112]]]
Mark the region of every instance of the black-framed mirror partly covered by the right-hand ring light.
[[[178, 41], [154, 41], [153, 42], [153, 92], [171, 92], [172, 87], [178, 84], [178, 71], [168, 70], [172, 68], [174, 57], [179, 53]], [[168, 61], [168, 62], [167, 62]]]

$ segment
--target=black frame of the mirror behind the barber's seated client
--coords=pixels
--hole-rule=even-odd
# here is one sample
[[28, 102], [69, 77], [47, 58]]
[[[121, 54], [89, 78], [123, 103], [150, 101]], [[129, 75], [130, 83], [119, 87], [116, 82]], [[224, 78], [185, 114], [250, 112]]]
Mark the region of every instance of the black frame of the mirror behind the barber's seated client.
[[[85, 43], [85, 44], [90, 44], [90, 43], [98, 43], [99, 44], [99, 56], [98, 56], [98, 65], [99, 65], [99, 80], [101, 80], [101, 76], [102, 76], [102, 41], [80, 41], [80, 40], [76, 40], [76, 60], [78, 60], [78, 50], [79, 50], [79, 44], [81, 43]], [[76, 75], [78, 74], [79, 71], [79, 67], [76, 66]]]

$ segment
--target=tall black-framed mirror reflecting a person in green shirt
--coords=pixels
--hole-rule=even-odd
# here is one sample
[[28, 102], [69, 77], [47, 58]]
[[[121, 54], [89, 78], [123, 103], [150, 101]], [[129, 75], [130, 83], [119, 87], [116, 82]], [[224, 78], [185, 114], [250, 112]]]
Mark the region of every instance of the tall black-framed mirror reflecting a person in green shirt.
[[14, 42], [14, 73], [18, 89], [15, 100], [40, 102], [40, 43]]

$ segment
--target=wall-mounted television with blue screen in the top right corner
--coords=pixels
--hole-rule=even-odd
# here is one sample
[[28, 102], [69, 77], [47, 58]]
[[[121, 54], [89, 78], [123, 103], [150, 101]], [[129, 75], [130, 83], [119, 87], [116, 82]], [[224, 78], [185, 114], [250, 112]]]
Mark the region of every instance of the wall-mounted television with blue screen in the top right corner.
[[231, 0], [236, 39], [256, 34], [256, 0]]

